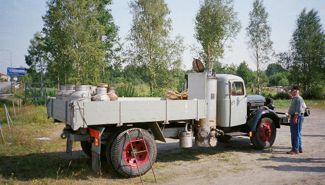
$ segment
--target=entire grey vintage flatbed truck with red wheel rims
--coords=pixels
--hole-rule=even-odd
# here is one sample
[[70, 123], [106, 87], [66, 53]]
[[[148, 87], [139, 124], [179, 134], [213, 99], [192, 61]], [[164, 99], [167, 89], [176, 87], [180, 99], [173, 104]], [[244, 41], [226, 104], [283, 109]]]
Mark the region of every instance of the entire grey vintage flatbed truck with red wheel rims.
[[246, 95], [243, 79], [234, 75], [185, 75], [187, 100], [119, 97], [117, 101], [49, 98], [47, 117], [66, 123], [61, 138], [81, 142], [101, 172], [101, 156], [126, 177], [141, 176], [157, 155], [156, 140], [179, 137], [181, 147], [213, 147], [232, 136], [249, 136], [254, 147], [272, 146], [276, 129], [288, 119], [275, 113], [272, 99]]

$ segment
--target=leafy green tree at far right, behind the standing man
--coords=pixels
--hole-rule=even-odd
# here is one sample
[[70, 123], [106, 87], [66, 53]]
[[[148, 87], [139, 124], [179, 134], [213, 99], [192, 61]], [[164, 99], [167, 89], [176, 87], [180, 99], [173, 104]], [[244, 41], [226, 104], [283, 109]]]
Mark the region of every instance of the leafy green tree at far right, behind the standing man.
[[325, 32], [317, 14], [314, 9], [300, 13], [291, 50], [280, 54], [281, 64], [291, 73], [291, 82], [302, 84], [307, 95], [325, 80]]

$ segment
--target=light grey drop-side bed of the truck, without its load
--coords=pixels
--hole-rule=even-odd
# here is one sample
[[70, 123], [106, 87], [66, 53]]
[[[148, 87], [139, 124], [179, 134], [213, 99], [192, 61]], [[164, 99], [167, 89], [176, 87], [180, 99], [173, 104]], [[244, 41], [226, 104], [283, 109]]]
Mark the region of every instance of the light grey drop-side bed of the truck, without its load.
[[66, 123], [73, 130], [95, 125], [123, 125], [206, 118], [206, 101], [119, 98], [118, 101], [72, 102], [49, 98], [47, 117]]

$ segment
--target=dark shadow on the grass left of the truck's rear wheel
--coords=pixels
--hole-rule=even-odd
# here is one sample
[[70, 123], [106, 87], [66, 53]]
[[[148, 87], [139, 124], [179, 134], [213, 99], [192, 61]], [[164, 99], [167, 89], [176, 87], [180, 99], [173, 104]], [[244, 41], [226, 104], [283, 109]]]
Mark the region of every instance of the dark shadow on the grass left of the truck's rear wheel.
[[[102, 162], [106, 163], [105, 161]], [[0, 175], [21, 181], [30, 179], [88, 179], [89, 177], [123, 178], [108, 165], [102, 165], [102, 174], [91, 168], [91, 159], [81, 150], [73, 151], [72, 158], [65, 152], [38, 153], [23, 156], [1, 156]]]

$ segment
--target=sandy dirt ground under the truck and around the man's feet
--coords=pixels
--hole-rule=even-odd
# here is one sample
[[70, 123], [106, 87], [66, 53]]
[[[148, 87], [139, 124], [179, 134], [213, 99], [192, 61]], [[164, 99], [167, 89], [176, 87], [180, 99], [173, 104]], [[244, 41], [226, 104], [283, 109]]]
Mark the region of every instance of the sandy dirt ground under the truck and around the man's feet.
[[[157, 141], [153, 166], [157, 184], [325, 184], [325, 109], [311, 109], [311, 114], [303, 123], [304, 153], [298, 155], [286, 154], [291, 150], [289, 126], [277, 129], [276, 140], [267, 150], [253, 149], [244, 136], [218, 142], [216, 147], [194, 146], [193, 139], [188, 149], [180, 148], [178, 139]], [[110, 174], [103, 174], [101, 183], [141, 184], [139, 177], [125, 179], [110, 170], [102, 172]], [[151, 170], [146, 175], [150, 174]], [[153, 176], [144, 179], [144, 184], [156, 184]]]

